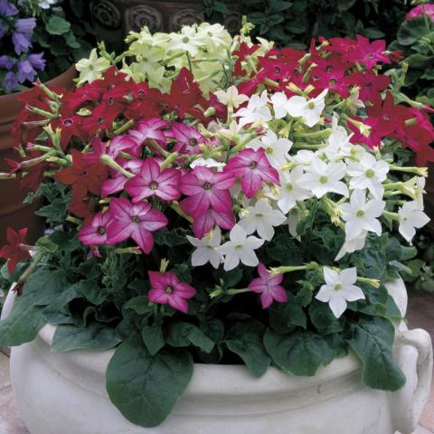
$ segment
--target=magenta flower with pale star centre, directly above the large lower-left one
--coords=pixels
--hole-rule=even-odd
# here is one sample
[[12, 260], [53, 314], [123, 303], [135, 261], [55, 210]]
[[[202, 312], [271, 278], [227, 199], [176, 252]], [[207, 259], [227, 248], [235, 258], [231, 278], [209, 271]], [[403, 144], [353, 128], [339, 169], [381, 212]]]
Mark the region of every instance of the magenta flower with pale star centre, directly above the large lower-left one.
[[125, 184], [127, 193], [137, 203], [149, 196], [159, 197], [163, 201], [172, 202], [179, 199], [181, 193], [181, 172], [177, 169], [163, 169], [155, 158], [146, 158], [139, 173]]

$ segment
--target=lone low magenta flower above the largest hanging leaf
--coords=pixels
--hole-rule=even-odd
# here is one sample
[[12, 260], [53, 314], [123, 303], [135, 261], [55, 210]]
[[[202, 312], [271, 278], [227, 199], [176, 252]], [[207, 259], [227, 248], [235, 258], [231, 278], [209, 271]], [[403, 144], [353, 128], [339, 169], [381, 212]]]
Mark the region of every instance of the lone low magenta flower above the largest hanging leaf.
[[167, 305], [186, 314], [188, 303], [186, 300], [194, 297], [196, 290], [187, 283], [181, 282], [172, 271], [159, 273], [148, 271], [151, 281], [151, 290], [148, 293], [149, 301]]

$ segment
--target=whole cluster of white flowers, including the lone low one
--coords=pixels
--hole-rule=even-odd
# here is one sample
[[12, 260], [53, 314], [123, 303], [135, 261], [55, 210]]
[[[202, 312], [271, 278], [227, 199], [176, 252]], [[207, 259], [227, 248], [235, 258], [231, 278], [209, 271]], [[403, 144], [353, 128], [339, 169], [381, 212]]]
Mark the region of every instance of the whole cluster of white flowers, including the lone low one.
[[[424, 177], [416, 175], [406, 183], [392, 182], [390, 172], [399, 168], [382, 159], [380, 150], [352, 144], [335, 113], [325, 127], [326, 95], [327, 90], [312, 99], [306, 95], [288, 99], [283, 93], [269, 97], [264, 90], [248, 99], [235, 88], [216, 92], [230, 109], [230, 116], [227, 124], [212, 126], [213, 134], [244, 144], [245, 148], [263, 148], [269, 164], [278, 171], [279, 184], [263, 184], [251, 199], [241, 194], [240, 186], [233, 187], [232, 200], [241, 205], [241, 211], [229, 240], [221, 245], [219, 228], [202, 240], [189, 237], [197, 248], [193, 266], [208, 261], [214, 268], [223, 263], [226, 270], [240, 262], [256, 266], [259, 260], [255, 250], [273, 239], [276, 227], [287, 224], [292, 236], [299, 239], [297, 223], [316, 212], [318, 206], [345, 233], [336, 261], [363, 249], [369, 232], [381, 235], [382, 219], [398, 222], [402, 237], [410, 243], [415, 229], [429, 222], [423, 212]], [[238, 110], [231, 116], [231, 109]], [[315, 145], [311, 144], [313, 138]], [[212, 159], [203, 165], [216, 164]], [[398, 194], [409, 196], [410, 202], [396, 201]], [[315, 209], [312, 203], [316, 203]], [[395, 212], [393, 207], [397, 207]], [[329, 302], [335, 316], [344, 312], [345, 300], [364, 297], [362, 290], [354, 287], [355, 269], [343, 270], [342, 274], [325, 269], [324, 273], [326, 284], [317, 298]]]

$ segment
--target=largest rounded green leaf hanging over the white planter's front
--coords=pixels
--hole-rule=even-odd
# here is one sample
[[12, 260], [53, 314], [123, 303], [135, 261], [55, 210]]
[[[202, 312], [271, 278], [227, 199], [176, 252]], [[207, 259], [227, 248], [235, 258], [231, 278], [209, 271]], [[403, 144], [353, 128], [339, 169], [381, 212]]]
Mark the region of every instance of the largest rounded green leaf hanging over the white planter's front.
[[141, 427], [160, 425], [193, 375], [187, 351], [165, 349], [151, 355], [138, 336], [120, 344], [106, 373], [109, 398], [127, 420]]

